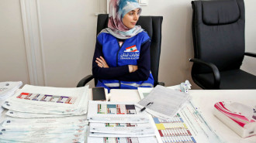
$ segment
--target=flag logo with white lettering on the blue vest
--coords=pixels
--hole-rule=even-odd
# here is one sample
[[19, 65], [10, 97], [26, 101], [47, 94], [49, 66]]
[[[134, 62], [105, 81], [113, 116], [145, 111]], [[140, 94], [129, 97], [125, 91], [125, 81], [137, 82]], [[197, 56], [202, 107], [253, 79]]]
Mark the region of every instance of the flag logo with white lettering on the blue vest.
[[138, 60], [140, 57], [140, 52], [137, 49], [136, 45], [130, 46], [124, 50], [124, 53], [121, 55], [121, 60]]

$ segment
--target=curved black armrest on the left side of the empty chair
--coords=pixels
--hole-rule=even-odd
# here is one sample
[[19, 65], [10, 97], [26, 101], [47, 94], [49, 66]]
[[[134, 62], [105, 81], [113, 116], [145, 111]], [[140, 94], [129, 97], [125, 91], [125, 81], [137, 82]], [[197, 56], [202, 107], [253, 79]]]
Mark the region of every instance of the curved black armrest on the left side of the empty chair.
[[199, 63], [199, 64], [202, 64], [205, 66], [209, 66], [209, 68], [211, 68], [211, 70], [213, 71], [213, 78], [214, 78], [213, 88], [219, 89], [219, 87], [220, 87], [220, 72], [219, 72], [217, 66], [215, 66], [213, 63], [206, 63], [199, 59], [189, 59], [189, 61], [194, 62], [194, 63]]

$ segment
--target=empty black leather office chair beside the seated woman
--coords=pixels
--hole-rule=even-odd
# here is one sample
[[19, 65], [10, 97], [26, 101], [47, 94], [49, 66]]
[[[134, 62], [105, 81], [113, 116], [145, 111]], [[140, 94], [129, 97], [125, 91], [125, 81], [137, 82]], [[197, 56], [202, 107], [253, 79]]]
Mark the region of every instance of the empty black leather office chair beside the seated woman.
[[240, 70], [244, 55], [244, 1], [192, 1], [195, 59], [192, 80], [202, 89], [255, 89], [256, 77]]

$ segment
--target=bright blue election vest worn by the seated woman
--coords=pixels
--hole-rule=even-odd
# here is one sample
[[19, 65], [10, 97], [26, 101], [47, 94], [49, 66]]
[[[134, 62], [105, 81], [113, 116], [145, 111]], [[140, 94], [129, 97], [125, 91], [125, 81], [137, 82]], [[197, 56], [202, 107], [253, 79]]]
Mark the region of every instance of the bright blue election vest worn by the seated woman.
[[[137, 36], [126, 39], [120, 47], [116, 37], [102, 32], [97, 36], [102, 44], [102, 52], [109, 67], [137, 65], [140, 58], [140, 46], [150, 40], [147, 32], [140, 32]], [[154, 78], [150, 76], [144, 81], [98, 80], [96, 87], [110, 89], [137, 89], [137, 87], [154, 87]]]

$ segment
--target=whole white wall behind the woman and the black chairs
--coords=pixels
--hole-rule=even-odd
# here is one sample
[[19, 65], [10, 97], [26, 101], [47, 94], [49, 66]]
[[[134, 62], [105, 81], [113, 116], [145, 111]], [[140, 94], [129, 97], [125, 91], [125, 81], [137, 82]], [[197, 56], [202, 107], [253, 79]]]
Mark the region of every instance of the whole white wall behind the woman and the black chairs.
[[[0, 81], [30, 83], [22, 31], [20, 0], [0, 0]], [[96, 12], [106, 11], [105, 0], [25, 0], [38, 3], [41, 27], [43, 71], [46, 86], [75, 87], [92, 73], [95, 48]], [[98, 2], [102, 2], [99, 5]], [[246, 51], [256, 53], [254, 0], [245, 0]], [[150, 0], [142, 15], [163, 15], [159, 80], [166, 86], [187, 79], [193, 57], [192, 8], [190, 0]], [[4, 62], [2, 62], [4, 61]], [[242, 68], [256, 74], [253, 58], [245, 58]], [[2, 70], [3, 69], [3, 70]], [[90, 83], [93, 85], [93, 82]], [[192, 83], [193, 89], [199, 89]]]

